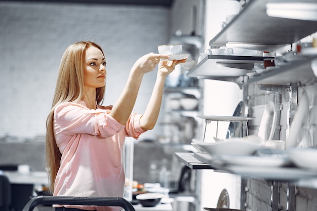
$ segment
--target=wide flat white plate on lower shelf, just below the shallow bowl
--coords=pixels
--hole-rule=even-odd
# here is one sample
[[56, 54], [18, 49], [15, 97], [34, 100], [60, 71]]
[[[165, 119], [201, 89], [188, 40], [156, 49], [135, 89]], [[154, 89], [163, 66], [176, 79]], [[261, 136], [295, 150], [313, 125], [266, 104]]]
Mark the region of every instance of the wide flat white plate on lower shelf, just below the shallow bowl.
[[271, 166], [278, 167], [291, 163], [288, 157], [273, 157], [273, 156], [234, 156], [234, 155], [214, 155], [214, 159], [217, 159], [223, 164], [229, 165], [254, 165], [254, 166]]

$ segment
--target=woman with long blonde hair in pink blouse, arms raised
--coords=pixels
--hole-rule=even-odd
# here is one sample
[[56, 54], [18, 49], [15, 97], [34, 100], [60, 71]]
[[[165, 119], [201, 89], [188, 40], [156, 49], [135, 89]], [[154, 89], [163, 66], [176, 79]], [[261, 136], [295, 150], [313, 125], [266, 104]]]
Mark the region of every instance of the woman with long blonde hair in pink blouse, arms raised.
[[[63, 54], [52, 110], [47, 118], [47, 165], [50, 190], [56, 196], [123, 197], [125, 137], [137, 139], [153, 129], [162, 103], [164, 82], [175, 65], [167, 55], [147, 54], [133, 65], [117, 102], [103, 107], [106, 60], [100, 46], [81, 41]], [[159, 64], [154, 89], [143, 115], [132, 113], [145, 73]], [[112, 210], [117, 207], [54, 205]]]

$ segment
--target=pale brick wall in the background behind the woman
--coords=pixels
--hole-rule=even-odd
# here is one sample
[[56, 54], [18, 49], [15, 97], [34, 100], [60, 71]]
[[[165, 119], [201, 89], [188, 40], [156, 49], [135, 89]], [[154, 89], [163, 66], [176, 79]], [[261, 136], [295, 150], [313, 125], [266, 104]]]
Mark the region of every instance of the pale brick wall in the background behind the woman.
[[[169, 15], [165, 7], [0, 2], [0, 138], [45, 134], [59, 61], [75, 41], [103, 48], [104, 104], [114, 104], [134, 62], [168, 42]], [[155, 72], [145, 75], [135, 112], [144, 112]]]

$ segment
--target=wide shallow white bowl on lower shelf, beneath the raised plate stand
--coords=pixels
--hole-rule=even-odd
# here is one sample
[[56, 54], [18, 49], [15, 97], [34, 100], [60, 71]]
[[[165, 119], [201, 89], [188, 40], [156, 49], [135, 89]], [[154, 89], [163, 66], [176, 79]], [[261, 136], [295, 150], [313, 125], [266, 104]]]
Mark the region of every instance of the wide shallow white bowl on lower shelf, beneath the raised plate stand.
[[263, 140], [255, 135], [215, 142], [193, 140], [193, 143], [211, 155], [252, 155], [264, 146]]

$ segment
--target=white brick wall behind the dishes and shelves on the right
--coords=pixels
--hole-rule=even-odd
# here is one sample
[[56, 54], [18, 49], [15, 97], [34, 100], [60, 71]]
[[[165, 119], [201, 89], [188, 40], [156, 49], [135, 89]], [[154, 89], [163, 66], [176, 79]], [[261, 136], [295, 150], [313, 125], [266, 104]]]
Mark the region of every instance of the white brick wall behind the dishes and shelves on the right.
[[[312, 103], [312, 95], [315, 92], [316, 85], [307, 85], [298, 87], [299, 98], [300, 94], [303, 90], [306, 90], [309, 98], [310, 105]], [[283, 89], [281, 89], [283, 90]], [[283, 104], [286, 99], [288, 93], [275, 93], [272, 91], [263, 91], [259, 90], [257, 85], [249, 86], [249, 115], [255, 116], [257, 119], [261, 119], [262, 113], [264, 111], [265, 105], [268, 101], [273, 101], [276, 105], [277, 112], [277, 122], [276, 122], [276, 130], [274, 134], [274, 140], [286, 140], [287, 132], [285, 128], [287, 128], [287, 119], [286, 113], [288, 110], [283, 108], [283, 110], [279, 111], [280, 105]], [[293, 92], [297, 92], [297, 90], [293, 90]], [[296, 112], [296, 105], [298, 102], [293, 102], [292, 106], [294, 109], [293, 114]], [[259, 121], [250, 121], [249, 122], [249, 132], [250, 134], [256, 134], [258, 131], [260, 122]], [[247, 189], [246, 192], [246, 210], [259, 211], [259, 210], [270, 210], [271, 209], [271, 181], [265, 181], [255, 178], [247, 179]], [[290, 184], [286, 182], [278, 182], [278, 208], [279, 210], [286, 211], [287, 210], [287, 188], [288, 185], [290, 187], [294, 187], [294, 184], [291, 182]], [[295, 198], [290, 198], [290, 203], [295, 204], [296, 211], [302, 210], [317, 210], [317, 190], [312, 188], [295, 186]], [[292, 189], [290, 190], [292, 191]], [[290, 209], [291, 210], [291, 209]]]

